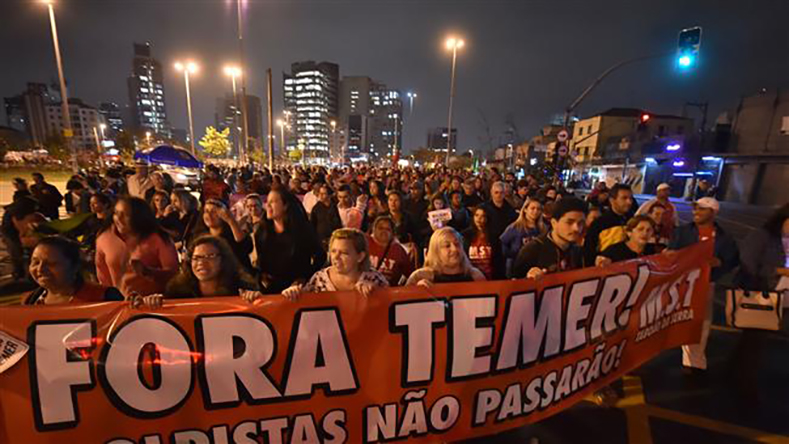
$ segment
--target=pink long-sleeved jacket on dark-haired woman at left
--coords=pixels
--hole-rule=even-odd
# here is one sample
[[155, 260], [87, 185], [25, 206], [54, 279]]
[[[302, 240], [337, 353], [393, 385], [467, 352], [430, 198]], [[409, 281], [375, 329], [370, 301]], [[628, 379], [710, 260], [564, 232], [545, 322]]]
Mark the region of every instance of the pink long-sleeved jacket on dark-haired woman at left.
[[[154, 275], [138, 274], [131, 266], [139, 260], [153, 269]], [[170, 277], [178, 272], [178, 253], [169, 240], [154, 233], [140, 242], [123, 239], [115, 227], [96, 239], [96, 274], [102, 285], [112, 286], [124, 296], [137, 292], [141, 296], [162, 293]]]

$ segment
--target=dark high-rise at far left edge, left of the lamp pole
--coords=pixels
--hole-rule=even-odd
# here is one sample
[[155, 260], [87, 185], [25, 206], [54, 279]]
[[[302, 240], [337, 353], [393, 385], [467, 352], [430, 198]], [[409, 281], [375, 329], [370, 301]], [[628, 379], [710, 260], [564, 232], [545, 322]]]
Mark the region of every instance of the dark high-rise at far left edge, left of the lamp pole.
[[23, 131], [34, 146], [42, 146], [50, 136], [46, 106], [60, 101], [60, 95], [43, 83], [28, 83], [22, 94], [4, 100], [7, 124]]

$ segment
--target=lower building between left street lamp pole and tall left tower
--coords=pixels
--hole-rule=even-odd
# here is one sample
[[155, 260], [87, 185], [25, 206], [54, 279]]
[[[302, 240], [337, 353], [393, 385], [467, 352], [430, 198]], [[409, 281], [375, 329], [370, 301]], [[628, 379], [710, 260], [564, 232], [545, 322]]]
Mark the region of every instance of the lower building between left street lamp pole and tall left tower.
[[[74, 131], [72, 143], [79, 149], [95, 149], [96, 138], [93, 129], [98, 131], [100, 125], [105, 124], [104, 117], [99, 114], [99, 110], [86, 105], [77, 98], [69, 99], [69, 115], [71, 116], [71, 128]], [[60, 103], [45, 105], [48, 133], [50, 135], [62, 134], [65, 128], [63, 120], [63, 107]]]

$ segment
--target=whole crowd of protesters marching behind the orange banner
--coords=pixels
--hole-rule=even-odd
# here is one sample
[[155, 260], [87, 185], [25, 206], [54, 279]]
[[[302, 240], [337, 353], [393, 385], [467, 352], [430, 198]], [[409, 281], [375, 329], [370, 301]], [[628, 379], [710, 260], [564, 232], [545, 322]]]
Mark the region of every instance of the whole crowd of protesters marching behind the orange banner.
[[[639, 207], [625, 184], [598, 184], [581, 200], [558, 181], [495, 169], [208, 166], [200, 189], [188, 190], [137, 163], [134, 171], [75, 175], [65, 198], [42, 174], [32, 176], [30, 188], [14, 181], [2, 224], [15, 277], [38, 286], [28, 304], [367, 297], [387, 286], [539, 279], [708, 238], [711, 291], [736, 268], [752, 287], [789, 276], [789, 205], [740, 252], [715, 221], [717, 200], [700, 197], [693, 220], [680, 225], [668, 184]], [[59, 221], [64, 200], [69, 218]], [[738, 267], [740, 256], [747, 260]], [[707, 366], [707, 316], [701, 343], [683, 347], [689, 374]], [[745, 340], [738, 353], [752, 362], [760, 339]]]

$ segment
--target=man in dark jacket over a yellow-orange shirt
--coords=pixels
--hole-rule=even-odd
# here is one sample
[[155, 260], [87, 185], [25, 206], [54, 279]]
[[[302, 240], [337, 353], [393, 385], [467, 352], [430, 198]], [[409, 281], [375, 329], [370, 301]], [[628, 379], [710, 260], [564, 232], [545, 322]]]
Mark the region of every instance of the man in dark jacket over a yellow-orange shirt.
[[633, 191], [630, 185], [618, 183], [611, 187], [609, 198], [611, 208], [589, 227], [584, 240], [584, 260], [587, 266], [594, 265], [597, 253], [609, 246], [627, 240], [625, 225], [630, 219], [633, 205]]

